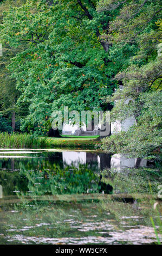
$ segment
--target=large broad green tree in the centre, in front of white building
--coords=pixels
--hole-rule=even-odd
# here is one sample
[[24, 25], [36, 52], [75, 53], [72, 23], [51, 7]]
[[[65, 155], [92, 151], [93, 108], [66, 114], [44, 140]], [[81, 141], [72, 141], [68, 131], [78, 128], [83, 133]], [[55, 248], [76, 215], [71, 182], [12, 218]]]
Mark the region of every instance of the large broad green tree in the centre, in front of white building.
[[113, 19], [96, 11], [96, 1], [28, 1], [11, 8], [3, 19], [1, 40], [12, 47], [28, 46], [12, 59], [9, 69], [21, 96], [29, 104], [22, 129], [49, 129], [51, 112], [107, 108], [111, 78], [121, 66], [109, 59], [110, 45], [100, 38]]

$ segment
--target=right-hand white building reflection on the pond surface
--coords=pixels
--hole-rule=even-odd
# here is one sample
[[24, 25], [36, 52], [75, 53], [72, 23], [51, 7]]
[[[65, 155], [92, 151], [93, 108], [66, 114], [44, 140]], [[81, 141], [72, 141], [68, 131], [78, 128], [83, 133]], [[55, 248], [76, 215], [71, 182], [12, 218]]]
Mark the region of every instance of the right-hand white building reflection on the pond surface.
[[125, 168], [145, 167], [146, 159], [127, 158], [125, 155], [115, 154], [111, 158], [111, 168], [115, 170], [122, 170]]

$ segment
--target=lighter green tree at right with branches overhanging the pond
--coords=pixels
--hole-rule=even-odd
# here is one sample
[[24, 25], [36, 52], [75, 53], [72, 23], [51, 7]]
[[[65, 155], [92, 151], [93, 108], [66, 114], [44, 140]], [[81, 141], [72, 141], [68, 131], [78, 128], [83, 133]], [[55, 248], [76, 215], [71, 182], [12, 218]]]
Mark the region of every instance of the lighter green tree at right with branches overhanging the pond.
[[[114, 8], [114, 1], [100, 2], [99, 9]], [[118, 100], [111, 120], [124, 120], [135, 116], [137, 125], [103, 139], [101, 148], [133, 157], [148, 157], [161, 147], [161, 56], [158, 54], [161, 34], [159, 1], [132, 1], [121, 8], [111, 23], [112, 42], [120, 48], [138, 46], [129, 66], [116, 74], [115, 79], [124, 86], [109, 102]], [[108, 39], [107, 39], [108, 40]], [[116, 51], [112, 47], [112, 53]], [[121, 56], [118, 57], [119, 59]], [[129, 104], [125, 104], [128, 100]]]

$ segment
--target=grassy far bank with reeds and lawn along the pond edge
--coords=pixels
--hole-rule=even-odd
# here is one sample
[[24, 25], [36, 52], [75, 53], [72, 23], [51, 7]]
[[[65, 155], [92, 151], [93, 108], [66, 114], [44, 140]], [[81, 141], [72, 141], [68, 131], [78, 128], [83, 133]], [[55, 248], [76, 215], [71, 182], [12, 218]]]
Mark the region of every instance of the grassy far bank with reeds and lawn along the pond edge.
[[27, 133], [0, 133], [0, 148], [62, 148], [62, 149], [94, 149], [98, 143], [97, 136], [86, 138], [70, 136], [61, 138], [38, 137]]

